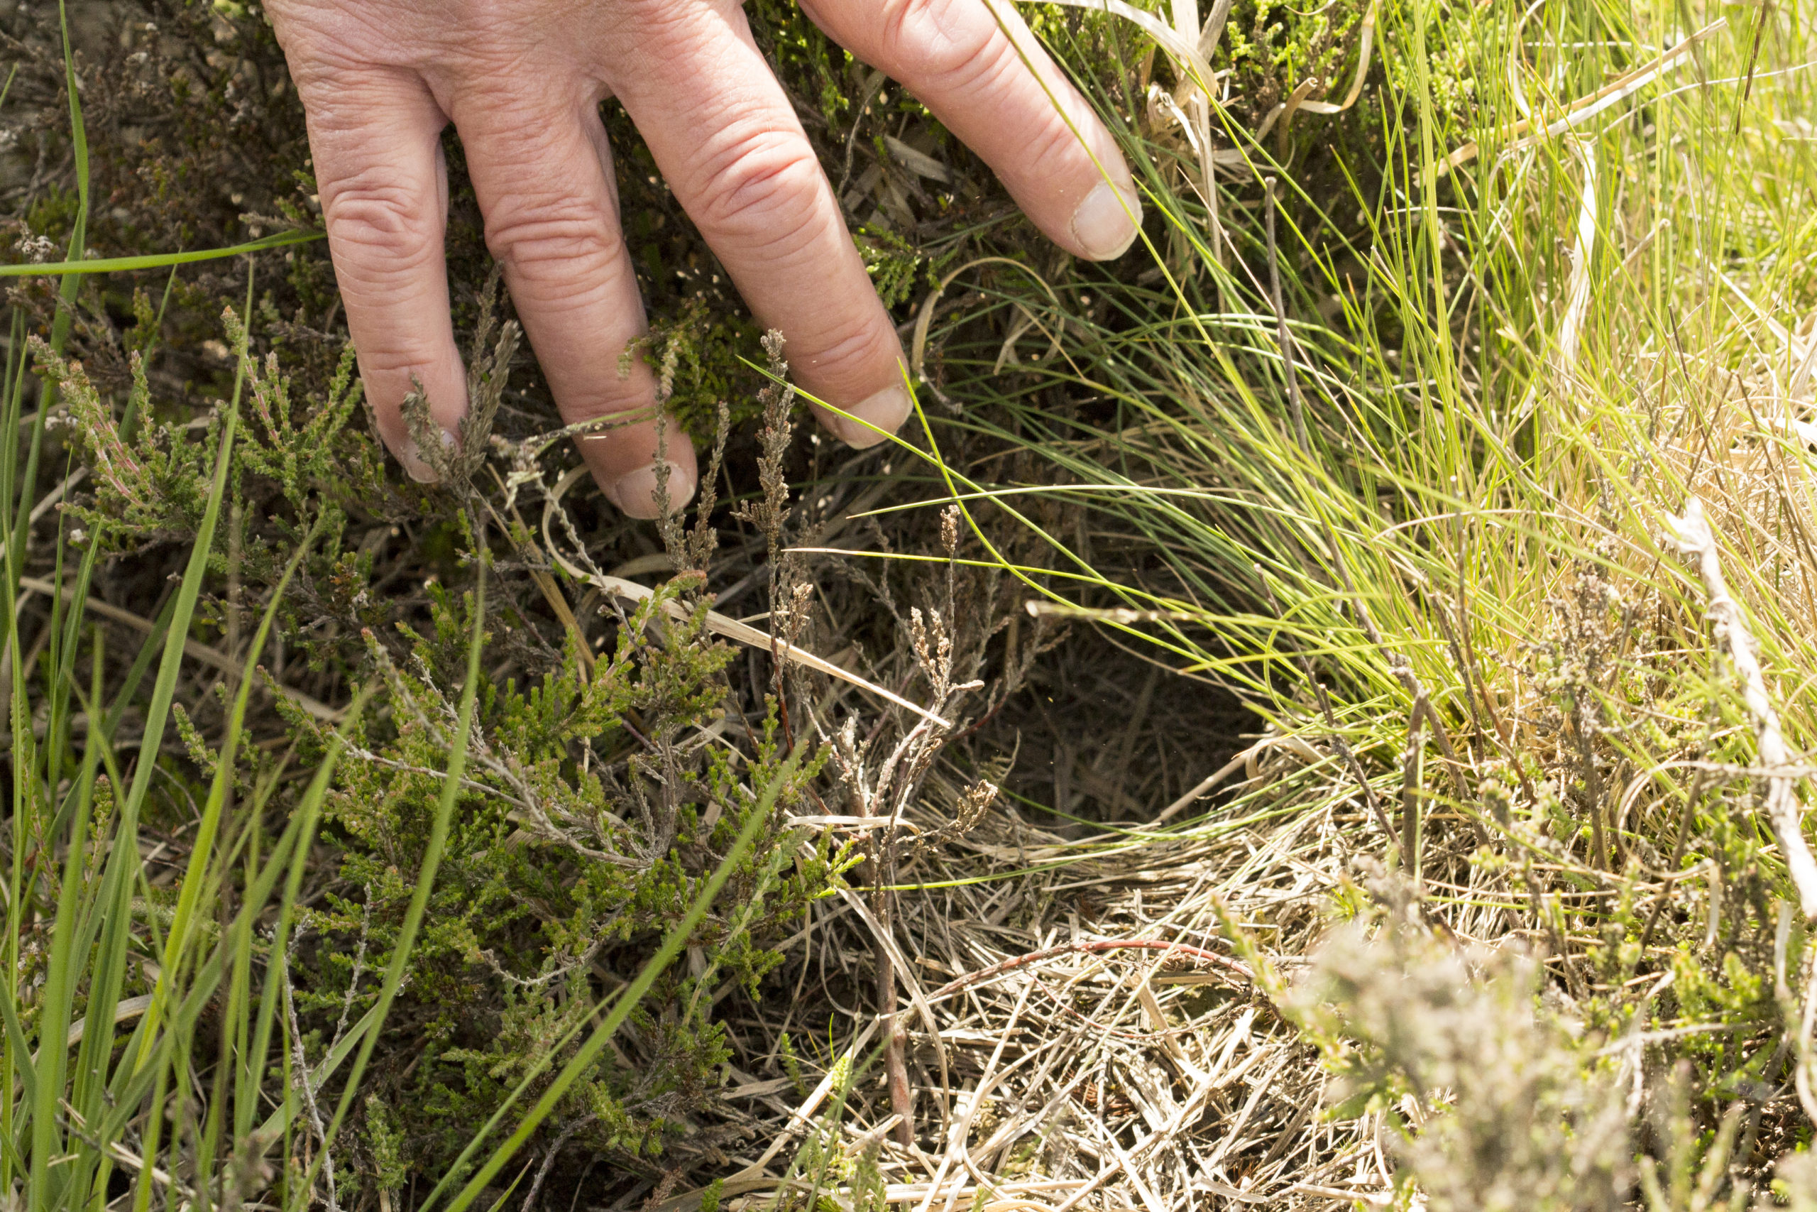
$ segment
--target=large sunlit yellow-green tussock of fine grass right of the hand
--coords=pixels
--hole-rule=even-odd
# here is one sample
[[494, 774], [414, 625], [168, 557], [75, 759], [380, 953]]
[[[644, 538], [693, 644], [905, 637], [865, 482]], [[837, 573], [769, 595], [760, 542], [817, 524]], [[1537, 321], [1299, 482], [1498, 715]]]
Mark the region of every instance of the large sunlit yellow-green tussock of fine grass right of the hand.
[[[1010, 571], [1052, 603], [1041, 609], [1139, 634], [1281, 729], [1332, 730], [1316, 678], [1335, 730], [1375, 758], [1392, 794], [1421, 696], [1472, 761], [1557, 765], [1557, 738], [1534, 727], [1557, 687], [1523, 672], [1534, 645], [1559, 640], [1561, 594], [1592, 576], [1623, 609], [1644, 609], [1652, 629], [1652, 651], [1608, 652], [1606, 676], [1586, 687], [1612, 723], [1630, 709], [1739, 721], [1703, 627], [1704, 589], [1664, 525], [1697, 494], [1764, 660], [1784, 678], [1786, 727], [1810, 738], [1797, 672], [1817, 656], [1810, 456], [1797, 432], [1808, 371], [1792, 389], [1810, 347], [1801, 323], [1817, 305], [1802, 269], [1817, 182], [1810, 144], [1793, 136], [1812, 100], [1808, 15], [1775, 9], [1753, 62], [1752, 13], [1715, 29], [1721, 13], [1697, 16], [1710, 31], [1695, 55], [1550, 136], [1517, 133], [1633, 78], [1683, 38], [1686, 15], [1584, 2], [1519, 27], [1497, 5], [1385, 18], [1385, 55], [1399, 67], [1375, 98], [1388, 165], [1379, 194], [1354, 193], [1370, 165], [1341, 162], [1352, 184], [1337, 196], [1301, 194], [1281, 211], [1276, 265], [1305, 443], [1268, 291], [1261, 191], [1232, 189], [1254, 222], [1230, 233], [1245, 256], [1225, 269], [1206, 249], [1192, 153], [1159, 134], [1165, 145], [1139, 154], [1152, 204], [1181, 236], [1154, 242], [1163, 282], [1130, 289], [1079, 274], [1056, 294], [1005, 274], [979, 287], [994, 303], [934, 325], [943, 391], [996, 407], [950, 418], [928, 405], [927, 503], [956, 500], [1038, 531], [1057, 572]], [[1468, 127], [1435, 104], [1428, 78], [1430, 64], [1459, 58], [1479, 67]], [[1474, 142], [1474, 158], [1454, 154]], [[1272, 151], [1250, 149], [1257, 169], [1283, 193], [1299, 189], [1296, 165], [1268, 164]], [[1326, 169], [1306, 187], [1330, 189], [1335, 176]], [[1363, 236], [1334, 245], [1321, 207], [1359, 213]], [[1228, 224], [1241, 209], [1226, 198], [1223, 213]], [[1301, 227], [1319, 231], [1303, 238]], [[1023, 325], [1005, 371], [1001, 338], [976, 334], [981, 318], [1010, 309], [1039, 329]], [[1067, 334], [1059, 353], [1047, 331]], [[1097, 403], [1047, 407], [1047, 387]], [[990, 483], [939, 465], [939, 434], [959, 429], [1034, 451], [1057, 483]], [[1038, 498], [1134, 538], [1150, 572], [1130, 580], [1039, 529], [1025, 512]], [[1626, 685], [1635, 678], [1652, 683], [1637, 692]], [[1704, 729], [1692, 732], [1621, 723], [1597, 743], [1652, 770]], [[1704, 758], [1750, 761], [1746, 729], [1712, 734]], [[1683, 794], [1675, 778], [1663, 772], [1648, 803]], [[1432, 794], [1452, 800], [1452, 783], [1435, 780]], [[1610, 829], [1657, 825], [1643, 816]], [[1768, 841], [1762, 861], [1775, 861], [1772, 850]]]

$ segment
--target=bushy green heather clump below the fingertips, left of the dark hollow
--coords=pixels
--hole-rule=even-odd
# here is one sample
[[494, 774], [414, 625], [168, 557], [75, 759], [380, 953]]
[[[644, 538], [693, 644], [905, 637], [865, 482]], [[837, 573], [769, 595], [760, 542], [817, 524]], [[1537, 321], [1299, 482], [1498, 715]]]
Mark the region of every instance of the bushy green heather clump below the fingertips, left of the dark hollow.
[[[685, 587], [670, 581], [640, 607], [591, 672], [571, 647], [538, 685], [480, 696], [471, 781], [394, 1010], [407, 1047], [365, 1087], [394, 1112], [389, 1148], [412, 1172], [445, 1168], [525, 1068], [592, 1012], [592, 985], [630, 978], [758, 810], [749, 787], [779, 770], [774, 732], [740, 761], [701, 730], [720, 714], [730, 658], [703, 638], [705, 601], [652, 638], [660, 605]], [[303, 918], [316, 943], [300, 961], [313, 978], [298, 1007], [323, 1021], [358, 1018], [389, 961], [440, 794], [467, 611], [436, 592], [434, 631], [412, 634], [398, 663], [372, 641], [383, 709], [351, 729], [354, 761], [323, 809], [342, 843], [338, 890]], [[730, 985], [754, 994], [778, 961], [765, 945], [854, 861], [825, 839], [803, 850], [785, 827], [816, 774], [807, 763], [789, 776], [720, 907], [687, 939], [690, 972], [665, 976], [632, 1016], [625, 1034], [643, 1059], [605, 1054], [565, 1096], [563, 1119], [589, 1121], [581, 1143], [660, 1150], [718, 1085], [727, 1054], [712, 1003]]]

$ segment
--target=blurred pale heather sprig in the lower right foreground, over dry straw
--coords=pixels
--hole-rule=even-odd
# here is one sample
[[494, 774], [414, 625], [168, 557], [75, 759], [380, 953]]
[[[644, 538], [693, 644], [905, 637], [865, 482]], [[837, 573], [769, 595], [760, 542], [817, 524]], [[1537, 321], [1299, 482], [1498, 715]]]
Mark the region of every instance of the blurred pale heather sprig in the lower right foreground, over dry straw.
[[1599, 1056], [1532, 956], [1459, 947], [1397, 899], [1339, 927], [1290, 1001], [1339, 1078], [1332, 1114], [1394, 1125], [1435, 1210], [1624, 1207], [1641, 1048]]

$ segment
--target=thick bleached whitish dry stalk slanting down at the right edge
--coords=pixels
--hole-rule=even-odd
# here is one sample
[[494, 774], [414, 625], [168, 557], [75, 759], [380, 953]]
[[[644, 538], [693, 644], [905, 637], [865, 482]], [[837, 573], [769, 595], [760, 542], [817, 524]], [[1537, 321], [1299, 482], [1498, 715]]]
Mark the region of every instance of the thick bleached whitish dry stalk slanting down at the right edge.
[[1793, 792], [1797, 780], [1786, 772], [1786, 767], [1792, 765], [1792, 752], [1779, 729], [1773, 700], [1766, 694], [1766, 678], [1761, 676], [1753, 632], [1748, 631], [1741, 603], [1728, 592], [1728, 580], [1723, 576], [1715, 534], [1704, 518], [1703, 502], [1695, 496], [1690, 498], [1684, 503], [1684, 516], [1673, 518], [1672, 525], [1679, 532], [1679, 551], [1697, 561], [1697, 574], [1703, 578], [1704, 589], [1710, 591], [1710, 621], [1715, 623], [1717, 643], [1724, 647], [1735, 674], [1741, 678], [1741, 698], [1759, 738], [1761, 765], [1770, 770], [1766, 776], [1766, 820], [1779, 839], [1779, 852], [1786, 858], [1786, 872], [1799, 890], [1799, 907], [1808, 919], [1817, 918], [1817, 859], [1812, 859], [1810, 847], [1804, 845], [1799, 798]]

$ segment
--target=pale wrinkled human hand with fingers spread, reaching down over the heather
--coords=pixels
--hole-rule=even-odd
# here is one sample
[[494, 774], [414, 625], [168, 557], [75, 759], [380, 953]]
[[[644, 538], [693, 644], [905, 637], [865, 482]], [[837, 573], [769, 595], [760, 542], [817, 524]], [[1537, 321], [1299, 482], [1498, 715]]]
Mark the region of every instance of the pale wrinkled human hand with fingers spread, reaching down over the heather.
[[[1116, 142], [1008, 0], [801, 7], [905, 84], [1063, 249], [1107, 260], [1136, 238], [1141, 207]], [[821, 423], [865, 447], [907, 418], [901, 343], [734, 0], [269, 0], [267, 11], [309, 118], [360, 376], [412, 476], [434, 476], [402, 416], [412, 382], [445, 431], [467, 411], [442, 260], [449, 122], [563, 420], [652, 416], [647, 367], [620, 371], [645, 316], [600, 122], [607, 96], [758, 322], [781, 329], [799, 385], [869, 422], [821, 412]], [[580, 440], [600, 487], [636, 518], [656, 516], [656, 425]], [[694, 451], [674, 429], [665, 449], [680, 505], [694, 492]]]

